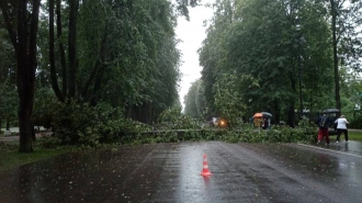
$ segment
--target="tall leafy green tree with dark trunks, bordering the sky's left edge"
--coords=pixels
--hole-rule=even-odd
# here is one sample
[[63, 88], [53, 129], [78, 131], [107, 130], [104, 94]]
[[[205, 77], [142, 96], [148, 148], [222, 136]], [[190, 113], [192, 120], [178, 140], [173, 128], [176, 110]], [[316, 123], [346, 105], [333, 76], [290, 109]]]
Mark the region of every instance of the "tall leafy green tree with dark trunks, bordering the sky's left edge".
[[[70, 13], [70, 4], [59, 9], [59, 0], [56, 4], [54, 2], [49, 0], [48, 4], [49, 64], [53, 89], [58, 99], [70, 98], [70, 80], [66, 77], [73, 74], [60, 72], [70, 68], [69, 45], [76, 44], [76, 99], [92, 105], [99, 101], [110, 102], [113, 106], [126, 109], [128, 116], [143, 122], [155, 121], [155, 115], [174, 103], [180, 79], [180, 53], [176, 48], [178, 42], [173, 32], [176, 11], [170, 2], [81, 1], [76, 43], [69, 43], [69, 37], [61, 36], [63, 30], [67, 29], [68, 36], [73, 32], [70, 31], [70, 14], [67, 14]], [[189, 7], [194, 2], [179, 3]], [[94, 15], [99, 18], [94, 19]], [[52, 26], [56, 26], [57, 36]], [[64, 56], [68, 56], [68, 63]], [[61, 91], [57, 87], [59, 81], [69, 87], [67, 93], [65, 86]]]

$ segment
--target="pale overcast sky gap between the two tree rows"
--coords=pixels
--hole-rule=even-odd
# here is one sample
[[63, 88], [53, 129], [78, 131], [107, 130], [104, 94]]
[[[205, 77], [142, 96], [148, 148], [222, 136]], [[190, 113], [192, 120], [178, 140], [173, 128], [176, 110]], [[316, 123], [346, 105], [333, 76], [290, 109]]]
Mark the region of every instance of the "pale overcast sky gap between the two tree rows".
[[[202, 0], [202, 3], [212, 3], [215, 0]], [[201, 77], [202, 67], [199, 63], [197, 49], [206, 37], [203, 21], [211, 19], [213, 15], [212, 9], [203, 5], [190, 8], [189, 11], [190, 21], [186, 21], [184, 16], [179, 18], [176, 29], [177, 37], [182, 41], [178, 45], [178, 48], [182, 53], [180, 70], [183, 76], [179, 91], [182, 105], [184, 105], [183, 97], [188, 93], [191, 83]]]

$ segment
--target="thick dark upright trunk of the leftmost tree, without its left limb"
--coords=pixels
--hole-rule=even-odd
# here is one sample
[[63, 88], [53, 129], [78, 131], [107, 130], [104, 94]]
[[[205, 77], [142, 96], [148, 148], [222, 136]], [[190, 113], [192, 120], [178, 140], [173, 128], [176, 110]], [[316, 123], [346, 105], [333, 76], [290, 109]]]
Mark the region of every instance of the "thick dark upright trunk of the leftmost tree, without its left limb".
[[[19, 0], [18, 11], [18, 93], [20, 153], [32, 153], [33, 123], [31, 121], [34, 103], [34, 83], [36, 70], [36, 36], [41, 0], [33, 0], [33, 11], [27, 22], [27, 1]], [[27, 27], [30, 24], [30, 27]], [[25, 58], [25, 59], [24, 59]]]

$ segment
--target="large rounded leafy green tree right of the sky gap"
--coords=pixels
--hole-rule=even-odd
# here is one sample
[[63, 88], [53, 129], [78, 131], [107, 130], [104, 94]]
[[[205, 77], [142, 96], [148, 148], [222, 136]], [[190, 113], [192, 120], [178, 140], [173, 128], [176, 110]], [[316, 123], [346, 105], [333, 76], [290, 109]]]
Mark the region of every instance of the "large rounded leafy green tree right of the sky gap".
[[[326, 94], [324, 92], [328, 92], [330, 83], [328, 82], [330, 75], [324, 74], [330, 72], [330, 47], [329, 31], [325, 20], [327, 13], [323, 2], [302, 0], [245, 0], [235, 1], [235, 4], [228, 3], [229, 0], [218, 2], [219, 5], [216, 8], [225, 8], [225, 11], [216, 13], [213, 22], [223, 24], [212, 25], [208, 29], [205, 42], [212, 46], [205, 43], [201, 49], [200, 60], [204, 67], [202, 76], [205, 84], [212, 80], [204, 76], [214, 75], [215, 81], [212, 84], [214, 92], [223, 90], [218, 87], [229, 83], [229, 87], [239, 89], [234, 97], [238, 95], [241, 100], [235, 103], [245, 103], [253, 112], [272, 111], [276, 120], [280, 112], [283, 112], [283, 115], [287, 114], [289, 123], [293, 127], [295, 109], [302, 109], [303, 104], [302, 101], [297, 102], [298, 95], [303, 93], [310, 108], [310, 101], [314, 101], [312, 98], [320, 93]], [[214, 49], [217, 52], [212, 56]], [[211, 69], [211, 67], [215, 68]], [[241, 82], [235, 86], [233, 81], [240, 82], [240, 79], [225, 79], [231, 78], [233, 75], [240, 79], [250, 77], [250, 83]], [[283, 82], [278, 78], [283, 78]], [[256, 83], [253, 79], [257, 80]], [[316, 90], [308, 84], [314, 82], [321, 83], [319, 84], [321, 88]], [[228, 91], [224, 93], [233, 94]], [[216, 99], [216, 94], [213, 98]]]

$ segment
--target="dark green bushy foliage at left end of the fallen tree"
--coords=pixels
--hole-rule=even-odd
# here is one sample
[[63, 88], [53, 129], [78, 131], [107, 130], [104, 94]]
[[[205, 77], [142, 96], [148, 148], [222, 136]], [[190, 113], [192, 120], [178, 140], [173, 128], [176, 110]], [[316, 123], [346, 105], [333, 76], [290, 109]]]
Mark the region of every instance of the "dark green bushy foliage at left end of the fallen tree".
[[[72, 100], [58, 102], [54, 108], [53, 131], [61, 145], [78, 145], [81, 148], [99, 148], [104, 143], [118, 139], [125, 133], [139, 133], [150, 126], [124, 119], [121, 110], [106, 103], [90, 106]], [[50, 140], [50, 144], [54, 140]]]

